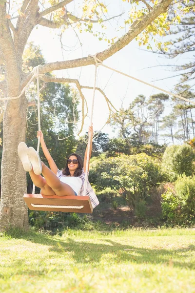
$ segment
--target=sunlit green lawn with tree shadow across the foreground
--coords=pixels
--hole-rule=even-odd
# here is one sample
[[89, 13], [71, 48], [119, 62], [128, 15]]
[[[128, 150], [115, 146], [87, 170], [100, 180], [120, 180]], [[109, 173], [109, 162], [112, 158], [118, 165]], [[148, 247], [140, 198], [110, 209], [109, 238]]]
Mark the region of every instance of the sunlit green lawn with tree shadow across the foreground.
[[195, 293], [195, 230], [0, 234], [3, 293]]

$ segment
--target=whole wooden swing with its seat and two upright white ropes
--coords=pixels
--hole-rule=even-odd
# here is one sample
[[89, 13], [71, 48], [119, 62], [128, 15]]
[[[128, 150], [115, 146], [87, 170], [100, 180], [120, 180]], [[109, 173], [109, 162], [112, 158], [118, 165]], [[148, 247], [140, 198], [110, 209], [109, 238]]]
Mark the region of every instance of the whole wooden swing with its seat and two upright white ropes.
[[[94, 93], [93, 93], [92, 109], [91, 109], [91, 123], [90, 123], [91, 126], [92, 126], [93, 111], [94, 111], [97, 67], [98, 67], [98, 64], [96, 63]], [[34, 72], [34, 75], [37, 77], [38, 125], [40, 130], [39, 66], [33, 68], [33, 72]], [[89, 139], [88, 139], [86, 170], [88, 170], [88, 167], [89, 167], [90, 140], [91, 140], [91, 132], [89, 133]], [[37, 146], [38, 153], [39, 153], [39, 146], [40, 146], [40, 137], [38, 138], [38, 146]], [[88, 174], [86, 172], [85, 180], [84, 180], [84, 194], [86, 194], [87, 179], [88, 179]], [[77, 212], [77, 213], [78, 212], [79, 213], [93, 212], [93, 207], [92, 207], [89, 196], [58, 196], [58, 195], [47, 196], [42, 194], [35, 194], [35, 185], [33, 185], [32, 194], [25, 193], [23, 198], [28, 208], [32, 210], [62, 211], [62, 212]]]

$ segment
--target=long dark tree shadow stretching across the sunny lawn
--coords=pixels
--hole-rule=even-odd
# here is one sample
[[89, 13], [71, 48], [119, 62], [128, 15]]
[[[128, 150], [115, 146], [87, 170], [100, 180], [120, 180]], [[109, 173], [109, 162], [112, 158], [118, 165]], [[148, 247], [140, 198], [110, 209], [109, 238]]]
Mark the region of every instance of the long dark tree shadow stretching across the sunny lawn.
[[[66, 254], [73, 252], [72, 257], [77, 263], [99, 263], [106, 259], [107, 254], [112, 254], [112, 260], [116, 264], [124, 262], [133, 262], [137, 264], [151, 263], [163, 264], [165, 266], [174, 266], [195, 270], [195, 262], [186, 262], [186, 257], [191, 256], [191, 251], [195, 251], [195, 245], [189, 245], [178, 249], [150, 249], [137, 248], [131, 245], [122, 245], [108, 238], [99, 239], [101, 244], [89, 243], [87, 241], [75, 241], [72, 238], [61, 239], [51, 236], [38, 234], [36, 232], [21, 232], [16, 235], [16, 231], [9, 231], [7, 236], [12, 238], [24, 239], [41, 245], [50, 246], [49, 251], [57, 254]], [[107, 236], [106, 236], [107, 237]], [[176, 260], [175, 260], [176, 258]]]

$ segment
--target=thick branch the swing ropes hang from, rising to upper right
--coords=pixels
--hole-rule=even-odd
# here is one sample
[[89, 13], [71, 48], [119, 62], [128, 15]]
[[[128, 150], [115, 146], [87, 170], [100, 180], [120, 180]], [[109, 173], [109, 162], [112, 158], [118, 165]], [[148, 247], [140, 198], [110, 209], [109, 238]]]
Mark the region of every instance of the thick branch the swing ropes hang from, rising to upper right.
[[[156, 6], [154, 6], [153, 10], [145, 15], [139, 22], [135, 25], [133, 23], [133, 27], [131, 26], [129, 32], [118, 39], [113, 45], [111, 45], [108, 49], [99, 52], [97, 54], [97, 58], [101, 61], [106, 60], [107, 58], [111, 57], [123, 47], [128, 45], [137, 35], [142, 32], [152, 21], [158, 17], [161, 13], [165, 12], [172, 0], [161, 0]], [[60, 69], [68, 69], [68, 68], [75, 68], [81, 66], [87, 66], [95, 64], [95, 60], [92, 57], [84, 57], [75, 60], [68, 60], [68, 61], [61, 61], [61, 62], [54, 62], [54, 63], [47, 63], [39, 67], [39, 73], [43, 74], [46, 72], [51, 72], [53, 70], [60, 70]], [[33, 76], [33, 72], [31, 72], [28, 77], [22, 81], [22, 87], [25, 86], [30, 78]]]

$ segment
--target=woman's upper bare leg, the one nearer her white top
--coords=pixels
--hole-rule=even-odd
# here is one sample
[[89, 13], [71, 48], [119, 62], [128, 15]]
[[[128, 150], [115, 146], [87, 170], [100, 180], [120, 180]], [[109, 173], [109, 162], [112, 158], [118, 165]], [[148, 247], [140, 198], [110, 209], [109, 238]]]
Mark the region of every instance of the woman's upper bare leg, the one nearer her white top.
[[61, 182], [59, 178], [48, 168], [43, 162], [42, 164], [42, 174], [46, 180], [47, 185], [52, 188], [56, 195], [66, 196], [66, 195], [75, 195], [73, 188], [68, 184]]

